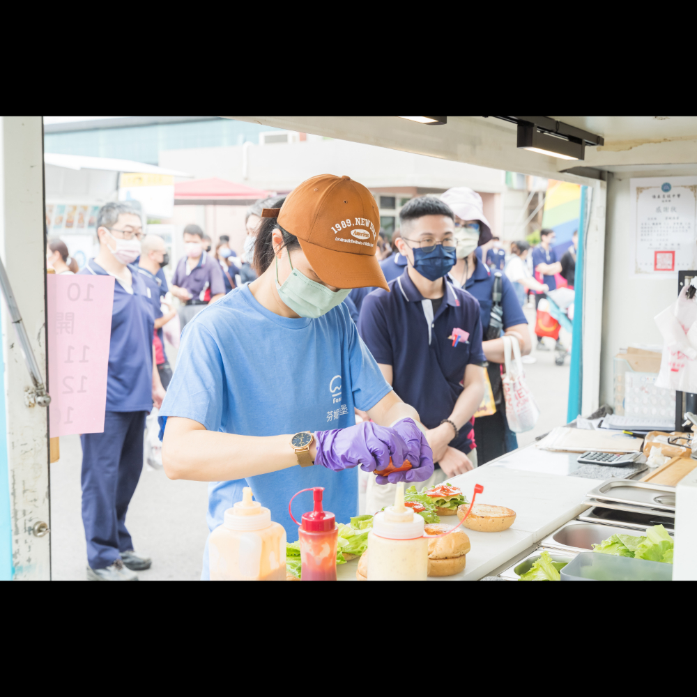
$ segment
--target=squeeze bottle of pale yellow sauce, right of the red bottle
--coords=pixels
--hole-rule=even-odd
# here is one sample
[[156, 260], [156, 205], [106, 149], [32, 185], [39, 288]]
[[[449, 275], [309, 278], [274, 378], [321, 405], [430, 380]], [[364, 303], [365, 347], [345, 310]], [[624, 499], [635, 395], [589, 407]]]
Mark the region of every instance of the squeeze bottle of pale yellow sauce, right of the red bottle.
[[368, 550], [368, 581], [426, 581], [429, 538], [422, 516], [404, 505], [404, 482], [397, 482], [395, 505], [375, 514]]

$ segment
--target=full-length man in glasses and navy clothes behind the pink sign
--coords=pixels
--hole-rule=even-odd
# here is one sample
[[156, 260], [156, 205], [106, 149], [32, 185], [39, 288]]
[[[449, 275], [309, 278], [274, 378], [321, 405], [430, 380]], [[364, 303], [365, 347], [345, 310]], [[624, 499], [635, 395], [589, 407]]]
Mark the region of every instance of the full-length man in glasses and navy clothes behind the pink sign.
[[164, 390], [153, 355], [151, 293], [132, 266], [140, 254], [141, 217], [126, 204], [106, 204], [97, 216], [97, 235], [99, 254], [79, 273], [116, 281], [104, 432], [80, 436], [87, 578], [137, 581], [128, 569], [148, 569], [152, 562], [133, 551], [125, 516], [143, 468], [146, 414], [153, 401], [162, 404]]

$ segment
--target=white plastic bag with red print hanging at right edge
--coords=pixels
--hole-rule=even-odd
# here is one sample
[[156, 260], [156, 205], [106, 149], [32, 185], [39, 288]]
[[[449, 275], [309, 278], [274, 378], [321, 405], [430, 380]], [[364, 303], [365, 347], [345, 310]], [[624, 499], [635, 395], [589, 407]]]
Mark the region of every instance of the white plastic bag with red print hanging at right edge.
[[663, 335], [657, 388], [697, 392], [697, 303], [687, 297], [689, 287], [654, 317]]

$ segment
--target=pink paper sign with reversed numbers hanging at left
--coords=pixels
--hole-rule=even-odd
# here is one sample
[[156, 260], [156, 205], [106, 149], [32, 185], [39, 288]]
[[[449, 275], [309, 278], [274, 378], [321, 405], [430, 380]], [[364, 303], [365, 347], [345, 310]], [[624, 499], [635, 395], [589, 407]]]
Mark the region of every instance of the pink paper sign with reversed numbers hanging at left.
[[107, 406], [114, 277], [47, 276], [50, 434], [100, 434]]

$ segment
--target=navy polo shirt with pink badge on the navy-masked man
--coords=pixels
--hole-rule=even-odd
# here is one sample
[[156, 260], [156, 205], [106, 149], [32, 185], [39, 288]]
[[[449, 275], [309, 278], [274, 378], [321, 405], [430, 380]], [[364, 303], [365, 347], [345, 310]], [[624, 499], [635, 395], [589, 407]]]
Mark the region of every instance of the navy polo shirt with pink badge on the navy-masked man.
[[[408, 271], [390, 281], [390, 293], [377, 289], [363, 300], [358, 330], [378, 363], [392, 366], [392, 387], [418, 411], [429, 429], [452, 413], [464, 387], [465, 368], [482, 365], [482, 323], [476, 300], [445, 282], [445, 296], [433, 315]], [[425, 306], [425, 307], [424, 307]], [[431, 319], [427, 319], [429, 312]], [[469, 334], [467, 342], [452, 345], [454, 328]], [[471, 424], [465, 424], [450, 445], [472, 450]]]

